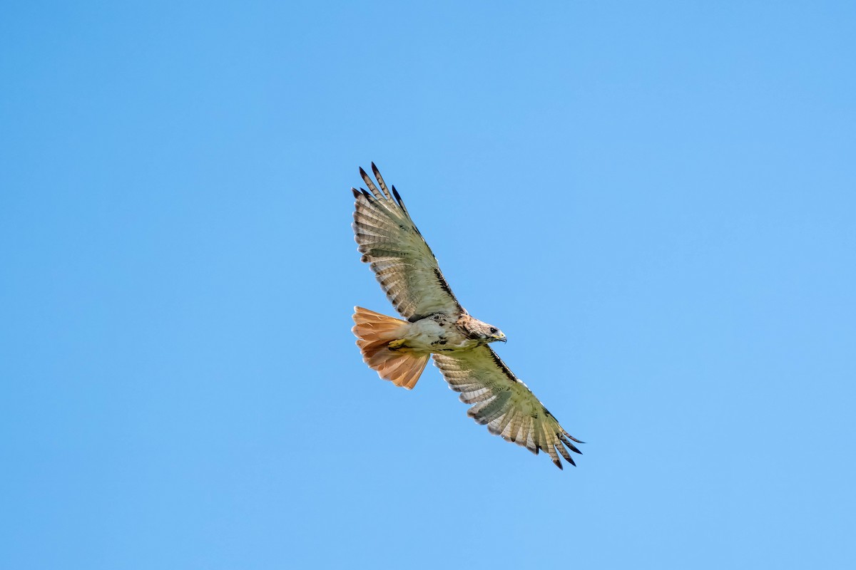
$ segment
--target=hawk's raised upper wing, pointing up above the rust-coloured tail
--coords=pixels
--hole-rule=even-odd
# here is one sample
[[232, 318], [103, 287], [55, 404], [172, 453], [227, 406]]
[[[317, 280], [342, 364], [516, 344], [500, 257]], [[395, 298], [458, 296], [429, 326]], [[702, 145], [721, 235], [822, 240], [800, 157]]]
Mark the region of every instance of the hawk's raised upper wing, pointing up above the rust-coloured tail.
[[411, 322], [434, 313], [461, 313], [437, 258], [410, 219], [395, 186], [390, 195], [373, 162], [372, 171], [380, 190], [362, 168], [360, 175], [372, 192], [351, 189], [357, 199], [354, 234], [362, 261], [372, 265], [389, 301]]

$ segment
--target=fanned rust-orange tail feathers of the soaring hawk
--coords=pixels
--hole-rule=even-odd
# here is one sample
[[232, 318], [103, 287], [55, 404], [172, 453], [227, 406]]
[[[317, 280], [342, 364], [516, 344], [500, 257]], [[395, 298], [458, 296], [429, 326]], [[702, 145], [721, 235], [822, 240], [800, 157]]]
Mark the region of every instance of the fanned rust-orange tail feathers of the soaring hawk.
[[382, 379], [411, 390], [425, 370], [431, 355], [408, 350], [389, 350], [389, 343], [407, 334], [410, 323], [362, 307], [354, 307], [354, 323], [351, 330], [357, 337], [357, 346], [360, 347], [366, 364]]

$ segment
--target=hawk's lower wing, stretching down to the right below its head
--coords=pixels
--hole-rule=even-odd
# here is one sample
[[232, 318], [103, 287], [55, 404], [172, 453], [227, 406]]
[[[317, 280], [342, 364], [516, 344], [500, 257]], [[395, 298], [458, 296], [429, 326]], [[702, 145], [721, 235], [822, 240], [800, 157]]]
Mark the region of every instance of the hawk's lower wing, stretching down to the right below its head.
[[467, 410], [467, 415], [483, 426], [486, 424], [490, 433], [522, 445], [536, 455], [538, 450], [546, 451], [560, 469], [559, 454], [576, 465], [568, 450], [582, 453], [571, 443], [582, 442], [562, 429], [553, 414], [489, 346], [436, 354], [434, 362], [449, 382], [449, 388], [461, 392], [461, 402], [475, 404]]

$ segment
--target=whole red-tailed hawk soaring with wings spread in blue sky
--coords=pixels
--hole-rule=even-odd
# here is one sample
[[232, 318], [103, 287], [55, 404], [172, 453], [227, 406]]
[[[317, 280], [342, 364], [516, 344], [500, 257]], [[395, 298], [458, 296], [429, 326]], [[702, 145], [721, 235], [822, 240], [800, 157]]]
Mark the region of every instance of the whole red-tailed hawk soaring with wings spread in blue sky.
[[505, 335], [461, 307], [395, 186], [390, 193], [373, 162], [372, 172], [380, 190], [362, 168], [369, 190], [351, 189], [355, 239], [362, 261], [371, 264], [383, 292], [407, 320], [354, 307], [363, 360], [382, 379], [410, 390], [433, 355], [449, 388], [461, 392], [461, 402], [474, 404], [467, 411], [473, 420], [536, 455], [547, 452], [560, 469], [559, 455], [576, 465], [568, 450], [580, 453], [571, 442], [582, 442], [562, 429], [488, 346], [504, 342]]

